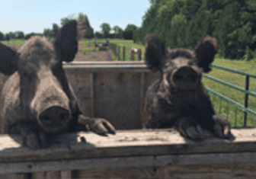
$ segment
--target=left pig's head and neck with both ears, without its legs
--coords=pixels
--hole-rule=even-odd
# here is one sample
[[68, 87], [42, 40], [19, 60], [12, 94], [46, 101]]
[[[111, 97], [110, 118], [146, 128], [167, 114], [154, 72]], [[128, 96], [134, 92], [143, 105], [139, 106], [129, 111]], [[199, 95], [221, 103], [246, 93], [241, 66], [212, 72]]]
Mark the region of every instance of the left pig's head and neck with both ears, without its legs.
[[[19, 120], [33, 120], [46, 133], [57, 133], [68, 126], [72, 101], [62, 62], [71, 62], [77, 52], [76, 24], [65, 24], [53, 43], [46, 37], [30, 37], [18, 51], [0, 44], [0, 63], [7, 65], [1, 66], [0, 71], [5, 75], [15, 72], [3, 94], [11, 96], [5, 101], [8, 126]], [[11, 117], [12, 113], [15, 117]]]

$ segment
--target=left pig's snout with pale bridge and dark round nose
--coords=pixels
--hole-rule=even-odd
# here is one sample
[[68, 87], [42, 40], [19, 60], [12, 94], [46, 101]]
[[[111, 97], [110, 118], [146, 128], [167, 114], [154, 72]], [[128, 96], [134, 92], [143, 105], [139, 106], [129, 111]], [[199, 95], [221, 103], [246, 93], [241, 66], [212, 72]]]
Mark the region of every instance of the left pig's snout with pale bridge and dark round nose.
[[57, 84], [44, 84], [39, 89], [31, 103], [38, 123], [47, 133], [61, 132], [72, 120], [69, 97]]

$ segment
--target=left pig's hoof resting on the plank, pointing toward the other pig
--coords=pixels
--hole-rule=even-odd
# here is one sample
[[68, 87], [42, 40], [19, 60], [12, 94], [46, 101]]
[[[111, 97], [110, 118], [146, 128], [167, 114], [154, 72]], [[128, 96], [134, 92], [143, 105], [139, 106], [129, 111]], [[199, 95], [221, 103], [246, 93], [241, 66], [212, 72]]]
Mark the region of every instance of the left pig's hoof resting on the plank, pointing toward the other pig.
[[94, 118], [92, 120], [91, 130], [101, 136], [107, 136], [107, 133], [116, 134], [114, 126], [102, 118]]

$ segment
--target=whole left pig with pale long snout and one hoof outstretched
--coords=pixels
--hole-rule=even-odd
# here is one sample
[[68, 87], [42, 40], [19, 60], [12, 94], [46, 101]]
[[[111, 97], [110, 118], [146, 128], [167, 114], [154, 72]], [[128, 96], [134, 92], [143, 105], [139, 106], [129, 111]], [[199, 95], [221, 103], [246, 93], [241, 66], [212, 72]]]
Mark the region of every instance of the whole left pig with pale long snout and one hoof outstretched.
[[12, 74], [2, 90], [6, 133], [21, 134], [32, 149], [49, 146], [57, 133], [115, 133], [107, 120], [82, 115], [62, 68], [62, 62], [71, 62], [77, 53], [76, 25], [65, 24], [53, 43], [31, 37], [18, 52], [0, 43], [0, 71]]

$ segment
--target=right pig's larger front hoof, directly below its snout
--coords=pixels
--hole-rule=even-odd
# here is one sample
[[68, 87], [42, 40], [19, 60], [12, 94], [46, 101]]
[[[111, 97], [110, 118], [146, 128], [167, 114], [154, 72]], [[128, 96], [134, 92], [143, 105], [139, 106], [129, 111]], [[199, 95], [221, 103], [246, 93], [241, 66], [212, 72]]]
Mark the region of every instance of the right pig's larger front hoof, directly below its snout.
[[203, 129], [197, 120], [191, 119], [190, 117], [181, 118], [177, 125], [177, 129], [181, 133], [181, 136], [193, 140], [203, 140], [213, 137], [213, 133], [211, 133], [210, 130]]

